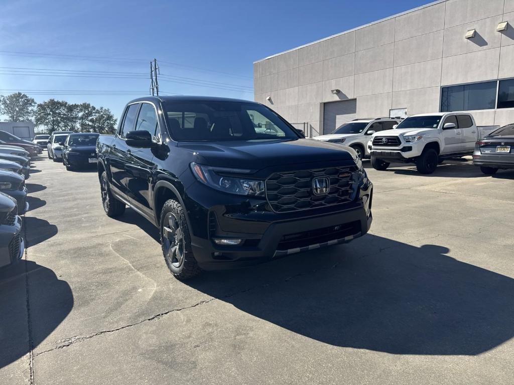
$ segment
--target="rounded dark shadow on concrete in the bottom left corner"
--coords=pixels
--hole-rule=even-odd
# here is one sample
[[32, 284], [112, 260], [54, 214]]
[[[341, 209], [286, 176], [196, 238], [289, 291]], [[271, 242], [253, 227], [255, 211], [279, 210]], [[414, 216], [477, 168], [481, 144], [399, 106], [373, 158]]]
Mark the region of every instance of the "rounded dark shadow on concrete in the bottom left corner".
[[0, 270], [0, 368], [29, 353], [27, 321], [28, 274], [32, 347], [37, 347], [74, 306], [71, 288], [49, 268], [21, 260]]

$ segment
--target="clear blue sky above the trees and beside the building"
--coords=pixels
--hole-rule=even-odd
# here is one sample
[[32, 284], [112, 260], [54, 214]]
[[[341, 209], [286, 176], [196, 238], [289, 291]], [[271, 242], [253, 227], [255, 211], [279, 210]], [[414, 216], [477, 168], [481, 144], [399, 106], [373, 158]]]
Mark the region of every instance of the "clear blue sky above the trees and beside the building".
[[154, 57], [162, 92], [253, 100], [255, 60], [428, 1], [1, 3], [1, 94], [89, 102], [118, 117], [128, 100], [148, 94]]

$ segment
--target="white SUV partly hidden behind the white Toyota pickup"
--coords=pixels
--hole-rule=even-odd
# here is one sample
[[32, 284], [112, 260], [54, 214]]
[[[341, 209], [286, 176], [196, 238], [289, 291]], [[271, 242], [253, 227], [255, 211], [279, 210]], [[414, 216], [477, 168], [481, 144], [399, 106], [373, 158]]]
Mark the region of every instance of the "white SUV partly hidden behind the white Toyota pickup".
[[370, 158], [370, 152], [366, 144], [370, 136], [375, 132], [390, 130], [399, 122], [400, 119], [391, 118], [355, 119], [342, 124], [331, 134], [320, 135], [313, 139], [352, 147], [359, 158], [367, 159]]

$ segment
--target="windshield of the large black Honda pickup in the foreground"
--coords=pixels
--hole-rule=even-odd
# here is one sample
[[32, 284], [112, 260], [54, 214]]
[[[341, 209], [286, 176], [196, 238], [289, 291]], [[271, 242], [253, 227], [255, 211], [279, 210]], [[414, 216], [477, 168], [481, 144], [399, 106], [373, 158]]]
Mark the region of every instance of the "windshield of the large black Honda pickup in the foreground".
[[287, 123], [260, 104], [164, 102], [168, 127], [177, 141], [298, 139]]

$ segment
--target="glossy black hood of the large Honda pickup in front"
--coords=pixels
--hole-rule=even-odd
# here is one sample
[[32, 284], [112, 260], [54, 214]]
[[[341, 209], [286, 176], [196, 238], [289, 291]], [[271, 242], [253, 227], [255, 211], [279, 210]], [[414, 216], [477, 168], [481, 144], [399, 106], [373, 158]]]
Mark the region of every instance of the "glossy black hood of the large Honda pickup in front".
[[348, 147], [313, 139], [180, 142], [178, 147], [193, 152], [198, 163], [251, 170], [309, 162], [353, 162]]

